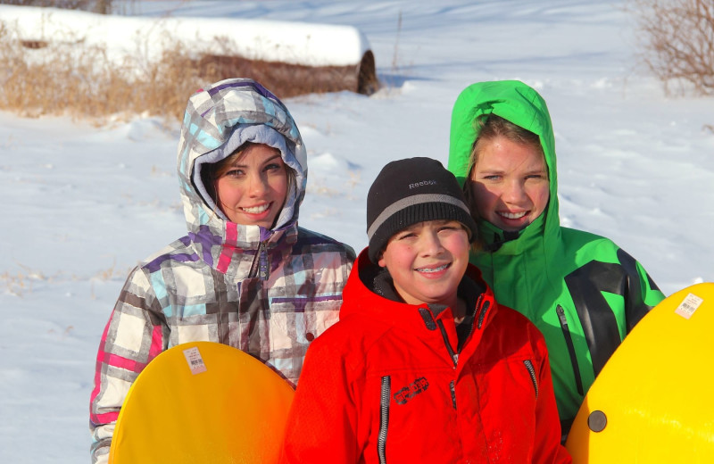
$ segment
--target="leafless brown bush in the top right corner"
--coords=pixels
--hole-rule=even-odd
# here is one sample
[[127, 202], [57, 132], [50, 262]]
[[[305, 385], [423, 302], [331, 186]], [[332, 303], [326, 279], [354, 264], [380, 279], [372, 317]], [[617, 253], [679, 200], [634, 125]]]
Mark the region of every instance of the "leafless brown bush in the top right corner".
[[668, 94], [714, 95], [714, 2], [632, 0], [641, 62]]

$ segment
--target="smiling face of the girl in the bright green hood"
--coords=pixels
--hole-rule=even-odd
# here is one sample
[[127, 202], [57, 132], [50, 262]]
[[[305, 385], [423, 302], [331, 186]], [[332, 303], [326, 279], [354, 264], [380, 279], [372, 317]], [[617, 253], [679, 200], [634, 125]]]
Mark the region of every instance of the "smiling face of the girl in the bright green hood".
[[470, 180], [479, 216], [502, 230], [525, 228], [548, 205], [548, 168], [530, 145], [505, 137], [486, 140]]

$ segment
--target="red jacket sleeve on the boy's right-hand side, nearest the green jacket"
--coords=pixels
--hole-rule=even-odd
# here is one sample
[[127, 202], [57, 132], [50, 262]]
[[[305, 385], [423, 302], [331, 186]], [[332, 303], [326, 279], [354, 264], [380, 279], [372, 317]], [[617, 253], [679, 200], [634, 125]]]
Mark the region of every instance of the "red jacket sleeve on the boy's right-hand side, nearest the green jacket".
[[538, 398], [535, 404], [533, 464], [568, 464], [572, 462], [572, 458], [568, 450], [560, 444], [560, 418], [552, 388], [551, 364], [544, 338], [540, 334], [535, 337], [534, 351], [540, 363]]

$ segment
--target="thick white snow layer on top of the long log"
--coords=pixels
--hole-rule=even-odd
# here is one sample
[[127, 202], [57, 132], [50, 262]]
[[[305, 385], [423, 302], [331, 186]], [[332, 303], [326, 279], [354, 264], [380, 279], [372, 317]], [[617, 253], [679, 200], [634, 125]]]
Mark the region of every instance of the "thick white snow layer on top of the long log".
[[105, 46], [121, 60], [141, 50], [149, 60], [176, 44], [190, 50], [304, 66], [359, 66], [367, 37], [352, 26], [222, 18], [114, 16], [0, 5], [0, 21], [23, 41]]

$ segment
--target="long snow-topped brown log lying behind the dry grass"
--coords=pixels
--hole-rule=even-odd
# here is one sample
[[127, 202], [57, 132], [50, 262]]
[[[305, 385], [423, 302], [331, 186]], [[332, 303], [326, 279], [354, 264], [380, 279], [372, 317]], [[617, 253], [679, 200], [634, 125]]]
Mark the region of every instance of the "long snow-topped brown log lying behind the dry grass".
[[315, 81], [317, 91], [369, 95], [378, 88], [367, 37], [352, 26], [118, 16], [11, 5], [0, 5], [0, 21], [31, 48], [50, 43], [102, 46], [110, 59], [121, 62], [128, 54], [158, 60], [181, 46], [195, 54], [198, 65], [218, 67], [227, 73], [224, 77], [237, 77], [254, 65], [258, 75], [240, 77], [308, 79]]

